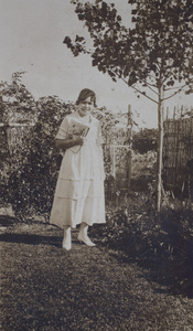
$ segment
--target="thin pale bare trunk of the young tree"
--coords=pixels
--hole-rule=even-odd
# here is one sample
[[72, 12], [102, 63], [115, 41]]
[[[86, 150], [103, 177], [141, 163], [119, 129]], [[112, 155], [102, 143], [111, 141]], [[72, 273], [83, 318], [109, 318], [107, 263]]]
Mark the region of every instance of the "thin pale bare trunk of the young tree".
[[159, 88], [159, 104], [158, 104], [158, 129], [159, 129], [159, 145], [158, 145], [158, 178], [157, 178], [157, 209], [161, 209], [161, 192], [162, 192], [162, 156], [163, 156], [163, 87]]

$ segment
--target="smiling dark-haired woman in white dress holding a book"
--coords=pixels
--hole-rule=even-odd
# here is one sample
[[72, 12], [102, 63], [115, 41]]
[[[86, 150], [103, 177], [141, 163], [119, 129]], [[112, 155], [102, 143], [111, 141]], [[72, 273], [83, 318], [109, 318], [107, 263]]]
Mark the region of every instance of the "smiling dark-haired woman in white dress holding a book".
[[[71, 228], [81, 224], [78, 241], [95, 246], [87, 235], [88, 226], [105, 223], [103, 138], [99, 121], [92, 116], [96, 107], [95, 93], [88, 88], [79, 93], [78, 110], [67, 115], [56, 135], [56, 146], [64, 150], [51, 223], [64, 228], [62, 247], [72, 247]], [[71, 137], [73, 122], [88, 127], [86, 137]]]

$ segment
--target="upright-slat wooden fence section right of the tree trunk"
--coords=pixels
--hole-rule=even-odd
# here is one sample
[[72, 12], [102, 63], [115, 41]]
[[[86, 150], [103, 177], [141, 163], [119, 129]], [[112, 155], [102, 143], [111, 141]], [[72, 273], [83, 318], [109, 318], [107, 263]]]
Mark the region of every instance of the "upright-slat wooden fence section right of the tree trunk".
[[168, 114], [169, 109], [163, 122], [163, 183], [169, 190], [182, 192], [185, 182], [192, 185], [193, 108], [174, 108], [172, 118]]

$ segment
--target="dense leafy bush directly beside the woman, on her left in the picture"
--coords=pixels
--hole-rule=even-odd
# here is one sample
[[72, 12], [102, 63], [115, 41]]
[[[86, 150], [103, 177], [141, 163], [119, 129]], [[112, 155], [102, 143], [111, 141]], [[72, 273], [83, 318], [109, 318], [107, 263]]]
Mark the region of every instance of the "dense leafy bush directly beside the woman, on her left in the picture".
[[25, 160], [10, 175], [11, 204], [20, 218], [24, 214], [50, 213], [58, 173], [58, 150], [55, 134], [69, 105], [56, 97], [41, 98], [39, 116], [30, 140], [23, 145]]

